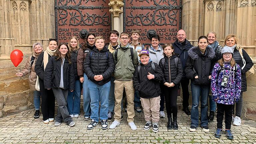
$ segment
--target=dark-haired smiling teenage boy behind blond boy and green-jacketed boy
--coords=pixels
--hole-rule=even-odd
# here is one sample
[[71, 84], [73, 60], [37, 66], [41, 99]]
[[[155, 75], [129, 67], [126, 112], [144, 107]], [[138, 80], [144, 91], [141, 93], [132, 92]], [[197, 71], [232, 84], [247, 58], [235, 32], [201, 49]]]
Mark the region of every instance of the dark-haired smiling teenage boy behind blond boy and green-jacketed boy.
[[[106, 48], [111, 53], [113, 53], [118, 46], [118, 42], [117, 42], [118, 37], [119, 37], [119, 32], [117, 30], [110, 31], [110, 33], [109, 33], [110, 43], [106, 44]], [[112, 75], [110, 78], [110, 91], [109, 91], [109, 96], [108, 96], [108, 121], [112, 121], [112, 116], [114, 114], [114, 106], [115, 106], [114, 80], [115, 80], [114, 75]], [[123, 105], [121, 105], [121, 107], [123, 109]], [[121, 120], [122, 119], [123, 119], [123, 115], [121, 113]]]

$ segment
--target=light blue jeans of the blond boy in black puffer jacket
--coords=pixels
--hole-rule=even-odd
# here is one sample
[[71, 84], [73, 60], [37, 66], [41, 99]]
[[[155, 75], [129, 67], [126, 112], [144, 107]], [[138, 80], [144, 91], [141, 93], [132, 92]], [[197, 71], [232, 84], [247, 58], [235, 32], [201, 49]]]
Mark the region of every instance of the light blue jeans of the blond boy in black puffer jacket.
[[[110, 91], [110, 81], [104, 85], [97, 85], [91, 80], [88, 80], [88, 88], [91, 97], [91, 119], [98, 122], [108, 119], [108, 95]], [[99, 117], [100, 104], [100, 117]]]

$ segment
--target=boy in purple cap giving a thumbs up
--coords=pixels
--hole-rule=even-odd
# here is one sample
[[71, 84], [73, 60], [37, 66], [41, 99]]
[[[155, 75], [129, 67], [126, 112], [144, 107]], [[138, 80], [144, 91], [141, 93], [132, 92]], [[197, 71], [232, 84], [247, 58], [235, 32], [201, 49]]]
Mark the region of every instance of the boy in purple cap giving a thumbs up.
[[148, 50], [141, 50], [140, 65], [135, 68], [133, 86], [139, 91], [141, 105], [143, 107], [146, 124], [144, 130], [149, 130], [153, 125], [153, 132], [158, 132], [160, 109], [160, 81], [163, 73], [160, 67], [149, 60]]

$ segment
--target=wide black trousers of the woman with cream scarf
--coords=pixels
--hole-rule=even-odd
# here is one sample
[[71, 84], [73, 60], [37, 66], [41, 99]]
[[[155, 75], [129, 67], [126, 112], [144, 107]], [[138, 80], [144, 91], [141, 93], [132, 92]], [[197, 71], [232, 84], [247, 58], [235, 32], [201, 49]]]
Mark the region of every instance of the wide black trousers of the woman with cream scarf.
[[47, 90], [44, 88], [44, 81], [39, 79], [40, 93], [42, 98], [41, 110], [43, 114], [43, 120], [54, 118], [55, 109], [55, 97], [52, 89]]

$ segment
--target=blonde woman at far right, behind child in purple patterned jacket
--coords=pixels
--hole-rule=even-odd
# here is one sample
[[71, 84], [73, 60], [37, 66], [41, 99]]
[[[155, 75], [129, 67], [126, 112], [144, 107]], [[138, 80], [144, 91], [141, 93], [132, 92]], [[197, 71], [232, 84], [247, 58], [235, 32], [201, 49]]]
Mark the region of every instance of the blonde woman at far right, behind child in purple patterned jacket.
[[[242, 87], [241, 87], [241, 95], [238, 102], [236, 102], [236, 114], [235, 117], [233, 117], [233, 125], [234, 126], [240, 126], [241, 125], [241, 112], [243, 107], [243, 92], [247, 90], [247, 82], [246, 82], [246, 75], [245, 73], [250, 70], [250, 68], [253, 66], [253, 62], [249, 55], [246, 53], [245, 50], [242, 49], [242, 46], [238, 43], [237, 37], [233, 34], [229, 34], [226, 36], [224, 42], [224, 46], [229, 46], [232, 48], [234, 54], [233, 58], [235, 62], [240, 66], [241, 70], [241, 77], [242, 77]], [[242, 49], [243, 58], [245, 60], [245, 63], [242, 60], [242, 56], [239, 53], [239, 50]], [[234, 110], [233, 110], [234, 112]]]

